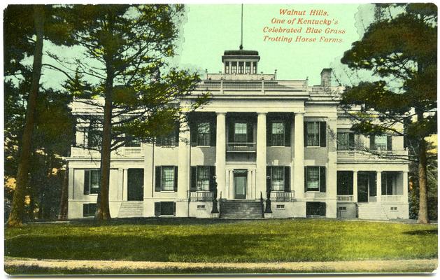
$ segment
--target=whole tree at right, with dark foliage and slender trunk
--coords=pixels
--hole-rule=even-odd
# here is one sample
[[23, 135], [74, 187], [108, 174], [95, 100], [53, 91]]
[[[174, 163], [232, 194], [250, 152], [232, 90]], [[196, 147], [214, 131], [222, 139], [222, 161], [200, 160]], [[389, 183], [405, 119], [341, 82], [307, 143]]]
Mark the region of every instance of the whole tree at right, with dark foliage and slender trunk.
[[341, 62], [378, 77], [346, 87], [341, 104], [360, 107], [351, 114], [355, 132], [402, 136], [416, 151], [409, 160], [418, 163], [418, 223], [429, 223], [425, 138], [437, 133], [437, 7], [376, 4], [376, 19]]

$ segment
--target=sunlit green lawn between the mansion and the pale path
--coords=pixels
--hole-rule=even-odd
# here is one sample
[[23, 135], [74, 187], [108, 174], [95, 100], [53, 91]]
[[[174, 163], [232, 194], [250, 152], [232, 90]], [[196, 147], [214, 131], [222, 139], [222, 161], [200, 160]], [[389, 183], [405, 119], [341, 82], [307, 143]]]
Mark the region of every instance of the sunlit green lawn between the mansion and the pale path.
[[6, 229], [5, 239], [5, 255], [41, 259], [286, 262], [437, 258], [437, 225], [323, 219], [144, 218], [101, 226], [92, 221], [27, 224]]

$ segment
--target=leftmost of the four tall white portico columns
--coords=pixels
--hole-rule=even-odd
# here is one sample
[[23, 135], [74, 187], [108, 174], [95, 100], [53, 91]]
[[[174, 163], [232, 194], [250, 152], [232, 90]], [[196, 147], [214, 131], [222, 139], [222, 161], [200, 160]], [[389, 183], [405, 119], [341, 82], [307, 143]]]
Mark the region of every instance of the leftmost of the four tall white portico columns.
[[186, 123], [182, 124], [182, 130], [178, 147], [177, 195], [187, 198], [190, 190], [190, 130]]

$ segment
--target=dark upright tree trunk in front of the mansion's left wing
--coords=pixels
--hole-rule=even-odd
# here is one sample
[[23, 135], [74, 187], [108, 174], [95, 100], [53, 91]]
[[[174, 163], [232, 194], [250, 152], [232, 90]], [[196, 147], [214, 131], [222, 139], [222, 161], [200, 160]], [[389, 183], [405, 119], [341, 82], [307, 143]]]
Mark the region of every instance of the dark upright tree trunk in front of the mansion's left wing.
[[110, 185], [110, 159], [111, 159], [111, 116], [113, 95], [113, 66], [107, 63], [106, 94], [104, 103], [104, 120], [102, 127], [101, 148], [101, 195], [97, 209], [97, 221], [110, 220], [110, 207], [108, 205], [108, 188]]

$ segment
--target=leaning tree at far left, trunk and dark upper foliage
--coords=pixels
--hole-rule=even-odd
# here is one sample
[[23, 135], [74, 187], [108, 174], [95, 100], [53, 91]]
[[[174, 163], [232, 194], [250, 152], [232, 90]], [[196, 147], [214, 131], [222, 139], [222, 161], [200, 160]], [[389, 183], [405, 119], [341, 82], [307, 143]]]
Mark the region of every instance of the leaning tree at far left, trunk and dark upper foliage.
[[[43, 40], [46, 38], [56, 44], [69, 44], [68, 32], [59, 24], [59, 18], [55, 16], [56, 10], [53, 6], [10, 5], [4, 11], [5, 75], [15, 78], [22, 76], [29, 79], [30, 84], [18, 151], [13, 202], [7, 222], [10, 227], [21, 225], [24, 216], [24, 196], [31, 172], [32, 138], [40, 91]], [[31, 68], [22, 62], [27, 55], [33, 55]]]

